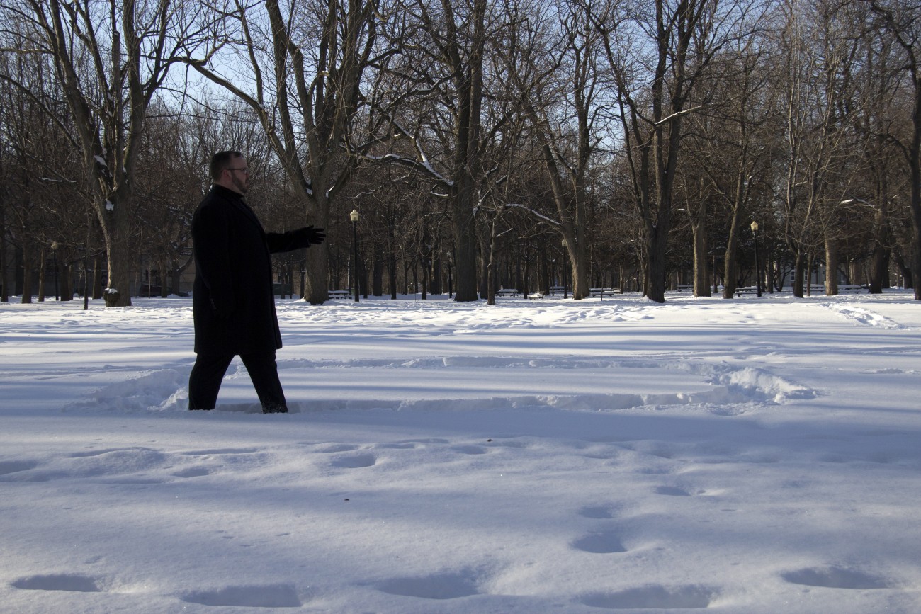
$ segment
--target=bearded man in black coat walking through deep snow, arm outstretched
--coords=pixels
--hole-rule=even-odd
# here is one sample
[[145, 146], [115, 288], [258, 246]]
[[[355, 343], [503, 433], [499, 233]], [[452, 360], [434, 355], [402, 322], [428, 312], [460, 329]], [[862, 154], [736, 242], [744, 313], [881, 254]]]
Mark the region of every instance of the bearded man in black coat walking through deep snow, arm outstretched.
[[282, 347], [275, 316], [271, 253], [319, 245], [322, 228], [266, 233], [244, 200], [246, 158], [236, 151], [211, 158], [211, 192], [192, 217], [195, 284], [195, 365], [189, 409], [212, 410], [227, 366], [239, 355], [264, 413], [286, 412], [275, 351]]

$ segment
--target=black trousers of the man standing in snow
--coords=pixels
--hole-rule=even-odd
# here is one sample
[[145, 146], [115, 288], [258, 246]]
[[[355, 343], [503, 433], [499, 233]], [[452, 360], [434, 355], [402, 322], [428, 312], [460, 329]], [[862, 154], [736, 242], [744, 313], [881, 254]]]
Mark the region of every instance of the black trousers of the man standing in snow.
[[[213, 410], [217, 402], [217, 391], [227, 373], [227, 367], [235, 354], [199, 353], [189, 374], [189, 409]], [[241, 353], [240, 359], [250, 374], [252, 385], [259, 395], [262, 411], [287, 411], [285, 392], [278, 379], [278, 365], [275, 353]]]

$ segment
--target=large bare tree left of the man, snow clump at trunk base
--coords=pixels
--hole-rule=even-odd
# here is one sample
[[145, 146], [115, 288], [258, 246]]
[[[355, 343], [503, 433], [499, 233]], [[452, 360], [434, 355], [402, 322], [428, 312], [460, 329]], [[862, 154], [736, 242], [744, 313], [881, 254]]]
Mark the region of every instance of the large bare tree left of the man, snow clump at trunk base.
[[[194, 6], [169, 0], [0, 3], [3, 17], [26, 34], [18, 50], [6, 51], [53, 60], [72, 122], [61, 128], [82, 154], [87, 200], [105, 237], [110, 305], [131, 305], [134, 172], [146, 110], [193, 36]], [[53, 110], [49, 115], [59, 118]]]

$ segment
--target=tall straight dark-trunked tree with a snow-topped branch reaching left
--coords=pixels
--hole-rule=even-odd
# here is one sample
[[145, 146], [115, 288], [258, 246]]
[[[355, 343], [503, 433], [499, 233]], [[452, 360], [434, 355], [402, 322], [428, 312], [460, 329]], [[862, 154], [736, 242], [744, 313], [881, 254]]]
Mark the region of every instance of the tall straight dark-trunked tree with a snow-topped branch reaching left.
[[[379, 142], [399, 147], [381, 161], [413, 168], [434, 183], [433, 194], [448, 200], [454, 234], [454, 300], [478, 298], [476, 219], [483, 177], [484, 52], [490, 40], [486, 0], [406, 0], [401, 3], [402, 57], [384, 75], [396, 95], [379, 96], [376, 112], [385, 121]], [[418, 112], [412, 118], [412, 109]], [[437, 160], [426, 153], [437, 148]]]

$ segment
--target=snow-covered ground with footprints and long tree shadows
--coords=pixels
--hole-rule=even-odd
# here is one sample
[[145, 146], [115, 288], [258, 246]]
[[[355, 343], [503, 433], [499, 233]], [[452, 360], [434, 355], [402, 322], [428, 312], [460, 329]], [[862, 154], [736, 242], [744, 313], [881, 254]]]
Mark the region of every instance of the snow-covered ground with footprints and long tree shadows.
[[0, 306], [0, 611], [921, 611], [921, 303]]

